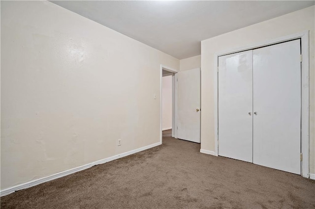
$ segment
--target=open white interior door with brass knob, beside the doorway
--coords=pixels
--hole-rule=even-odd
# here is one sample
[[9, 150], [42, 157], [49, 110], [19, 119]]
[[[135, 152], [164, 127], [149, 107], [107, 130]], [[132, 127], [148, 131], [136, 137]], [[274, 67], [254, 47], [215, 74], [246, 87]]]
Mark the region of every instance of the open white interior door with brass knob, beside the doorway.
[[200, 68], [176, 75], [177, 137], [200, 143]]

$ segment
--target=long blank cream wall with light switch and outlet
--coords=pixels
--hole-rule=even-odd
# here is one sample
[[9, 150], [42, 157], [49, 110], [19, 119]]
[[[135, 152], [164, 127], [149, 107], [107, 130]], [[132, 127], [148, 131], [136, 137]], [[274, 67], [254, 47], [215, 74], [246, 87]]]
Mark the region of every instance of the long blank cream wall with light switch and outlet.
[[1, 1], [1, 189], [158, 143], [160, 64], [179, 69], [51, 2]]

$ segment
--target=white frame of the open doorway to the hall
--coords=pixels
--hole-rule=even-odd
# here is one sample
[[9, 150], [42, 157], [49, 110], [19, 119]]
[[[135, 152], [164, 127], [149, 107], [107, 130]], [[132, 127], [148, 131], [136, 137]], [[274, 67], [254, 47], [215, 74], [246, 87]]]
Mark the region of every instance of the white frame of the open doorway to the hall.
[[160, 128], [160, 143], [162, 144], [162, 78], [163, 78], [163, 70], [170, 72], [172, 74], [172, 137], [177, 138], [177, 85], [175, 79], [177, 78], [178, 70], [165, 66], [160, 65], [160, 118], [159, 118], [159, 128]]

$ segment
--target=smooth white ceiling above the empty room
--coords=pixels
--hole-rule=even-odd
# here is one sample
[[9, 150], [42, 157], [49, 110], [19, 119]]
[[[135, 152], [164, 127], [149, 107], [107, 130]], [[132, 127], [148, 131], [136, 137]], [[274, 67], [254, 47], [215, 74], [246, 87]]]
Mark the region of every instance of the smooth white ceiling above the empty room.
[[52, 1], [144, 44], [183, 59], [200, 41], [299, 10], [315, 1]]

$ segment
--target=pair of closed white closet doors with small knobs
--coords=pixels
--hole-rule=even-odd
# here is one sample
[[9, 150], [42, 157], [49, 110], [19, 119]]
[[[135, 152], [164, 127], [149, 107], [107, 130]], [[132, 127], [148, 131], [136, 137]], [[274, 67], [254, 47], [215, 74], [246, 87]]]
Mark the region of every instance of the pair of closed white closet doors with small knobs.
[[301, 174], [300, 39], [219, 57], [218, 153]]

